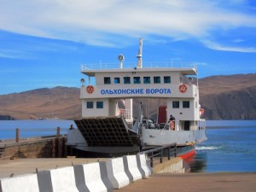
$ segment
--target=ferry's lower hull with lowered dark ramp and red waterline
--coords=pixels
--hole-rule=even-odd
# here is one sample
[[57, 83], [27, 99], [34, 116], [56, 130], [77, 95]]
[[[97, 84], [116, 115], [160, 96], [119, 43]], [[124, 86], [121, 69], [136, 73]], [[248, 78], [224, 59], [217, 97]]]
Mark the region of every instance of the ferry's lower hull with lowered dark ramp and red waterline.
[[76, 148], [83, 156], [84, 152], [121, 156], [137, 153], [139, 143], [143, 143], [143, 150], [177, 143], [177, 156], [186, 159], [195, 155], [196, 143], [207, 139], [205, 129], [170, 131], [143, 128], [138, 140], [137, 133], [129, 129], [122, 117], [79, 119], [75, 123], [78, 129], [68, 131], [67, 145]]

